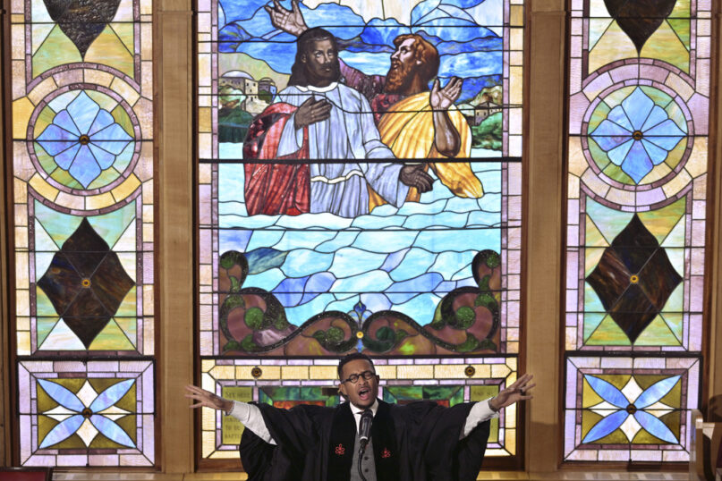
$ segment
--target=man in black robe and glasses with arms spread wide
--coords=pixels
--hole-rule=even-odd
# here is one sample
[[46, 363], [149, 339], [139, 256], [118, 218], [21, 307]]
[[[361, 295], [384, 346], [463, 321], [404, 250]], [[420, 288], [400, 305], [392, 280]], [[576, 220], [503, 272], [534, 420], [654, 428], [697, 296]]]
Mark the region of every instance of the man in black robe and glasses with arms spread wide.
[[[338, 366], [339, 392], [348, 401], [336, 408], [227, 401], [195, 386], [191, 407], [224, 409], [243, 422], [241, 459], [250, 480], [346, 480], [357, 476], [357, 432], [361, 413], [373, 412], [370, 448], [363, 454], [371, 481], [476, 479], [486, 450], [489, 422], [499, 409], [531, 399], [531, 375], [520, 377], [488, 401], [451, 408], [433, 401], [403, 406], [376, 398], [379, 377], [373, 362], [353, 353]], [[354, 457], [354, 454], [357, 456]]]

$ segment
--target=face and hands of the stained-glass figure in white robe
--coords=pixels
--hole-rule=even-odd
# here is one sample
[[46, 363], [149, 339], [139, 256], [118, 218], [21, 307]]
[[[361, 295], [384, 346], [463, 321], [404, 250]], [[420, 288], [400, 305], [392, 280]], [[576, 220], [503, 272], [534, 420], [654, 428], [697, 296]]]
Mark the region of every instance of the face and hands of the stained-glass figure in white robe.
[[[313, 87], [327, 87], [335, 78], [334, 63], [338, 63], [338, 53], [329, 39], [313, 42], [301, 62], [306, 67], [307, 78]], [[436, 113], [434, 113], [436, 115]], [[302, 129], [316, 122], [323, 122], [331, 116], [331, 103], [325, 98], [309, 97], [293, 116], [293, 126]], [[424, 165], [404, 165], [399, 172], [403, 184], [414, 187], [420, 193], [432, 189], [434, 179], [424, 172]]]

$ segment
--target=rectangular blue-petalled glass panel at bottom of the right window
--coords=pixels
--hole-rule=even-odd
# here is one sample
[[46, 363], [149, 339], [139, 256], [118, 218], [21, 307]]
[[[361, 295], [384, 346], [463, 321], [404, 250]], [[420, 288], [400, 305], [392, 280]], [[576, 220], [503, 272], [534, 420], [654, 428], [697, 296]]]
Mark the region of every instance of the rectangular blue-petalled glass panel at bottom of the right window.
[[566, 460], [689, 459], [697, 359], [569, 358], [566, 370]]

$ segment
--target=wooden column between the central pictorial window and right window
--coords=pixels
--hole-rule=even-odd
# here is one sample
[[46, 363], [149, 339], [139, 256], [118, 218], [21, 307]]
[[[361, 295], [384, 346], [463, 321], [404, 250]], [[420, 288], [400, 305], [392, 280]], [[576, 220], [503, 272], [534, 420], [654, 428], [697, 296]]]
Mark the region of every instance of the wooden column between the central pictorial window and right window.
[[527, 6], [529, 55], [525, 150], [523, 322], [526, 370], [534, 375], [527, 403], [526, 470], [556, 471], [562, 453], [561, 356], [565, 232], [565, 2]]

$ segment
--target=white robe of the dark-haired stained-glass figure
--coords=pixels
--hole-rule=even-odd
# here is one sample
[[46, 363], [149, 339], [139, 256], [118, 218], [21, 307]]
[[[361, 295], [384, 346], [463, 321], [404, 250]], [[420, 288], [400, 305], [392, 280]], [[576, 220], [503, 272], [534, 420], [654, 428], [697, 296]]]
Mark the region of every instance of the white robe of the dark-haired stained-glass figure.
[[[378, 135], [366, 97], [343, 84], [325, 88], [291, 86], [276, 101], [302, 105], [309, 97], [326, 98], [331, 103], [330, 117], [309, 125], [309, 158], [378, 159], [395, 158]], [[303, 130], [294, 127], [294, 118], [285, 124], [278, 144], [278, 156], [299, 150]], [[403, 164], [365, 163], [310, 164], [310, 212], [330, 212], [343, 217], [369, 213], [367, 182], [378, 195], [396, 207], [403, 204], [409, 186], [399, 181]]]

